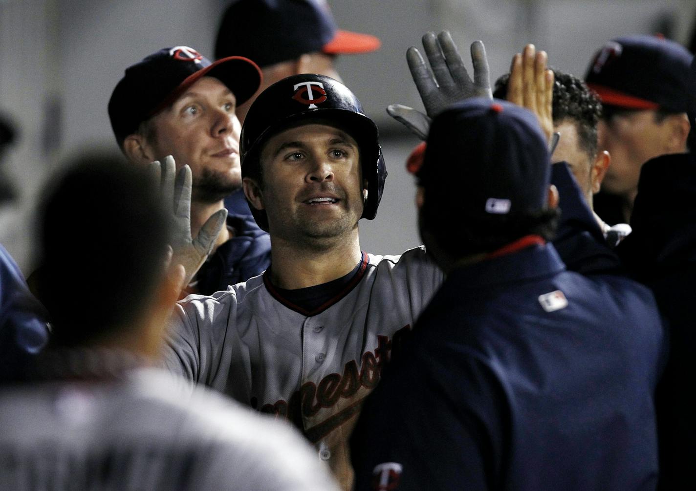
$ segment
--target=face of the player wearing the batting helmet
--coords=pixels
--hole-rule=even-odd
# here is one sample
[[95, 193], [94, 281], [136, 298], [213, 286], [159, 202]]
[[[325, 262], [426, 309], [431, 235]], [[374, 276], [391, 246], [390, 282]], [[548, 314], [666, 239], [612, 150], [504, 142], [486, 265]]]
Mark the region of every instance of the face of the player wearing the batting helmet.
[[271, 236], [331, 238], [356, 231], [363, 214], [358, 143], [326, 124], [282, 131], [262, 147], [263, 184], [255, 204]]

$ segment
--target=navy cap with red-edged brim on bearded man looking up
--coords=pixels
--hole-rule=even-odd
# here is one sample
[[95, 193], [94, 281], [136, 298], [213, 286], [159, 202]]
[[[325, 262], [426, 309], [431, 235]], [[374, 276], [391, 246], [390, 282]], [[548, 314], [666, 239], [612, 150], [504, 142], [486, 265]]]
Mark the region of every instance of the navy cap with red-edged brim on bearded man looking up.
[[211, 63], [195, 49], [160, 49], [128, 67], [109, 99], [109, 119], [118, 145], [141, 122], [174, 102], [201, 77], [215, 77], [243, 104], [261, 85], [261, 70], [251, 60], [230, 56]]

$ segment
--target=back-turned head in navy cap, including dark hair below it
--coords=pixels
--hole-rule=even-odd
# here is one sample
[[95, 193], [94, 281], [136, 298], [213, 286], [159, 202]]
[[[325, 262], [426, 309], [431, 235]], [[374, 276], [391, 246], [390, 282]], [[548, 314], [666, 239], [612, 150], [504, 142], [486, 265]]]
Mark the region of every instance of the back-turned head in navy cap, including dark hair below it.
[[535, 115], [524, 108], [469, 99], [443, 111], [417, 177], [421, 234], [450, 259], [493, 252], [529, 234], [553, 235], [551, 158]]

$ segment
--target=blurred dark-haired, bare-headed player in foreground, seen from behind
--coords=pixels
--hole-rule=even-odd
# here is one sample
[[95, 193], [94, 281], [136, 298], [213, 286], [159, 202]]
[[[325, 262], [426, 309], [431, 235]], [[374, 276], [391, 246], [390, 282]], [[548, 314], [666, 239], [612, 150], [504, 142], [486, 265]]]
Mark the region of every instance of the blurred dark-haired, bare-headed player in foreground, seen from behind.
[[144, 171], [90, 157], [48, 192], [52, 346], [31, 383], [0, 390], [0, 489], [338, 489], [292, 426], [152, 367], [184, 271], [166, 267], [168, 216]]

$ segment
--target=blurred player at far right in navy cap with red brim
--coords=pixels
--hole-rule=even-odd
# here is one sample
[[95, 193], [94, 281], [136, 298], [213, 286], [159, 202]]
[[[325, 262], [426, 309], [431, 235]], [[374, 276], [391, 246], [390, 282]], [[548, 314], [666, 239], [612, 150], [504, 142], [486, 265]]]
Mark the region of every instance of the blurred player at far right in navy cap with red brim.
[[677, 42], [631, 35], [606, 42], [587, 67], [585, 82], [603, 104], [599, 148], [612, 157], [595, 196], [596, 212], [606, 222], [628, 222], [646, 161], [686, 152], [692, 58]]

